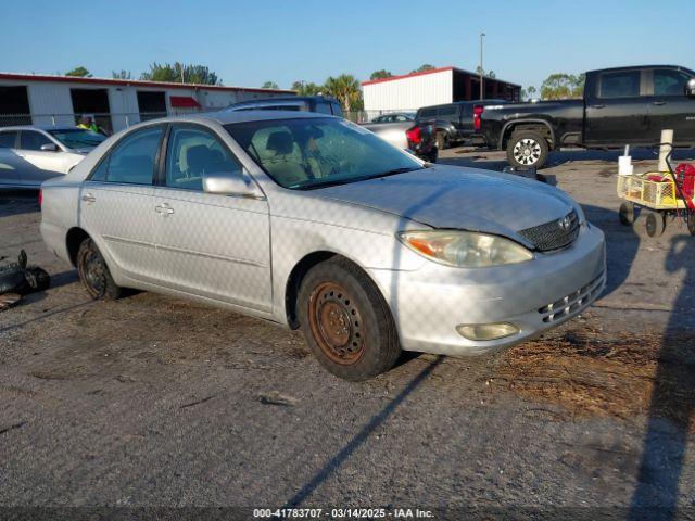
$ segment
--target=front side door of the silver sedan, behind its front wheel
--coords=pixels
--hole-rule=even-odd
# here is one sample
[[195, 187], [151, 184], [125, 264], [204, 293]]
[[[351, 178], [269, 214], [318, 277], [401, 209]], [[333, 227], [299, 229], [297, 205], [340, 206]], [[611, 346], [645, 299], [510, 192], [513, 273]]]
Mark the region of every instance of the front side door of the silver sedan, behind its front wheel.
[[204, 174], [242, 176], [212, 129], [174, 125], [154, 219], [162, 283], [231, 304], [269, 310], [270, 226], [266, 200], [203, 191]]

